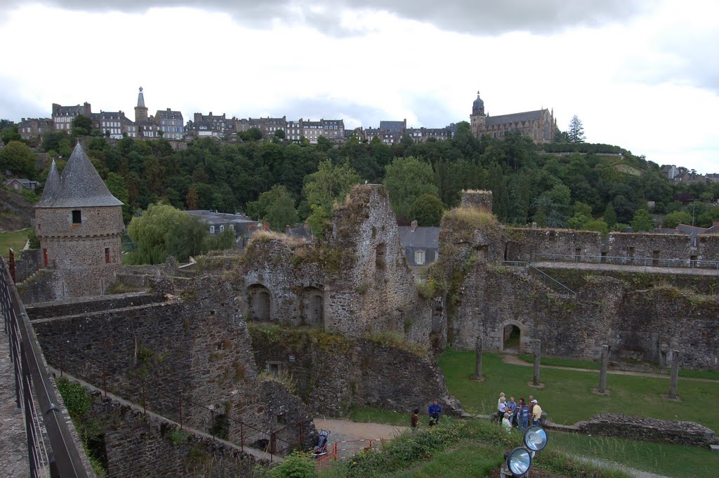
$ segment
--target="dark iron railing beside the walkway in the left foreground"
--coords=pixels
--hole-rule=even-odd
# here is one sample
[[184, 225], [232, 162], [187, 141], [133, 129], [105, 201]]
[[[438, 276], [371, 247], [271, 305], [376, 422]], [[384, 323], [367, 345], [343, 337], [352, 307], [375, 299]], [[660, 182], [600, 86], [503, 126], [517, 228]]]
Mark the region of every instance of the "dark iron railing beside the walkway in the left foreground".
[[75, 446], [45, 369], [40, 344], [2, 257], [0, 304], [14, 369], [16, 405], [24, 417], [29, 477], [88, 478], [84, 451]]

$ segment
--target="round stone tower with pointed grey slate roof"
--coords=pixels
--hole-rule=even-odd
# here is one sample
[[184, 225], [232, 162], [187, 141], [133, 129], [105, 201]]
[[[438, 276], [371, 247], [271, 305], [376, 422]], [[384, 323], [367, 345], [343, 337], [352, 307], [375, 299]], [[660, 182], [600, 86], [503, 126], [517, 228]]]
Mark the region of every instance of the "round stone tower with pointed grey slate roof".
[[35, 205], [35, 232], [45, 267], [55, 270], [57, 295], [99, 295], [120, 261], [122, 202], [112, 196], [83, 151], [75, 146], [63, 174], [55, 161]]

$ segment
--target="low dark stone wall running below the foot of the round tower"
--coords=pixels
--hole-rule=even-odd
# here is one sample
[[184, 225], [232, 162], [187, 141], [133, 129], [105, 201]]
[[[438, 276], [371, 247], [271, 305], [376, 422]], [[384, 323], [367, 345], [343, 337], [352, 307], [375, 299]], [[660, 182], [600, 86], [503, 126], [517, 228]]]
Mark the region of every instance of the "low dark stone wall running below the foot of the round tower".
[[[147, 293], [101, 295], [95, 298], [71, 298], [58, 302], [35, 303], [25, 310], [30, 320], [40, 318], [75, 316], [81, 313], [110, 311], [116, 308], [134, 307], [158, 302], [157, 296]], [[164, 298], [162, 298], [164, 300]]]

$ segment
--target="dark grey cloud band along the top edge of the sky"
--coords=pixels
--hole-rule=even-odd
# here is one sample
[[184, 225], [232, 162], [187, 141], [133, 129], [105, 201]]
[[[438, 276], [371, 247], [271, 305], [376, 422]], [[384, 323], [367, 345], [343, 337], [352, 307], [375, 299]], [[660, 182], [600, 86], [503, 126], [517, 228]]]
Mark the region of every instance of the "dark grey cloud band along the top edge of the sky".
[[[633, 17], [651, 8], [647, 0], [40, 0], [50, 6], [82, 11], [144, 12], [152, 7], [194, 6], [228, 12], [254, 27], [273, 19], [308, 24], [327, 35], [357, 33], [343, 28], [343, 10], [387, 11], [399, 17], [434, 24], [440, 29], [475, 35], [528, 31], [551, 33], [578, 25], [596, 26]], [[9, 0], [11, 6], [27, 0]]]

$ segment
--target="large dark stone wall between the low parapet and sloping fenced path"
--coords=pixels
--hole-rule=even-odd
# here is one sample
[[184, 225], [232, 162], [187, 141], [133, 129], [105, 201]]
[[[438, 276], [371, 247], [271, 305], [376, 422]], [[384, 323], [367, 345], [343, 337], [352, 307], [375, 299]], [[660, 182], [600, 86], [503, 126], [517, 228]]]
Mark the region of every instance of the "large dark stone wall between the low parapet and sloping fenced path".
[[[174, 420], [181, 395], [186, 423], [203, 431], [212, 427], [210, 410], [242, 420], [246, 437], [301, 421], [303, 431], [294, 428], [287, 441], [302, 434], [309, 443], [314, 426], [298, 398], [281, 384], [257, 380], [236, 291], [216, 277], [201, 277], [178, 293], [184, 301], [32, 323], [48, 362], [96, 387], [106, 383], [134, 403], [144, 395], [150, 410]], [[231, 421], [229, 437], [241, 433]]]

